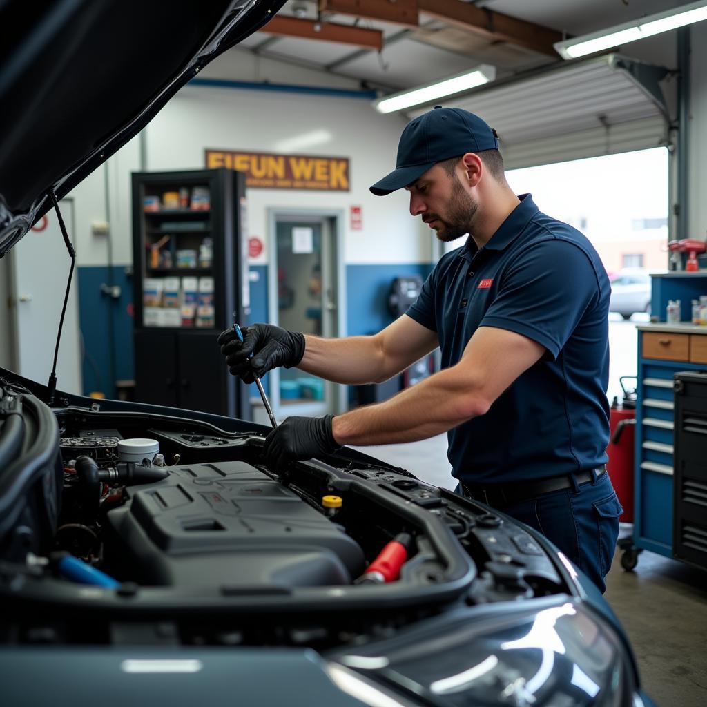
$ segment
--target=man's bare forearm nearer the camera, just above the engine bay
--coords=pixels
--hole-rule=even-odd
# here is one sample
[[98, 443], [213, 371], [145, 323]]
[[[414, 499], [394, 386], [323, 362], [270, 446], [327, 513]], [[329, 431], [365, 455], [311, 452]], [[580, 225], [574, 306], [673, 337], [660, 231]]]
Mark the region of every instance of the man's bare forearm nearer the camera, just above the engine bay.
[[332, 431], [341, 445], [415, 442], [484, 414], [489, 404], [481, 385], [448, 368], [390, 400], [335, 417]]

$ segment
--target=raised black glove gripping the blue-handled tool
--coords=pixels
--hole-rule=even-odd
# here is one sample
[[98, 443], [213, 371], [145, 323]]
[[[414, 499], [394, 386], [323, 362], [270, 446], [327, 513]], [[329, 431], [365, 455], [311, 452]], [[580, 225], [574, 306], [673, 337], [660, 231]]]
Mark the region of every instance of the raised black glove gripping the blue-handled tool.
[[[288, 332], [270, 324], [252, 324], [241, 329], [243, 343], [233, 328], [221, 332], [216, 343], [221, 354], [226, 356], [226, 365], [232, 375], [246, 383], [252, 383], [269, 370], [284, 366], [292, 368], [305, 355], [305, 335]], [[251, 354], [253, 355], [250, 358]]]

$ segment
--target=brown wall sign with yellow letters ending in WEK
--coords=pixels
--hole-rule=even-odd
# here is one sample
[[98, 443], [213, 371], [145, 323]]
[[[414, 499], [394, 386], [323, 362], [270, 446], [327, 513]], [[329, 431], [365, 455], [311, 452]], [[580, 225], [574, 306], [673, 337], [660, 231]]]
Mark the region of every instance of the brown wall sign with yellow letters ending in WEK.
[[206, 168], [245, 172], [245, 185], [261, 189], [321, 189], [348, 192], [349, 159], [259, 152], [206, 150]]

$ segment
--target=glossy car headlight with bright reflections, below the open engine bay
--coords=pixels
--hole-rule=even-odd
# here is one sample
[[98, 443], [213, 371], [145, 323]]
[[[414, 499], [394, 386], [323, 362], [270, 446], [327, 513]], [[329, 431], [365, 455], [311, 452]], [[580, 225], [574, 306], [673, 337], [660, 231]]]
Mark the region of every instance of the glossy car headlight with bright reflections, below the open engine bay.
[[426, 703], [636, 704], [633, 665], [621, 638], [568, 597], [460, 609], [333, 660]]

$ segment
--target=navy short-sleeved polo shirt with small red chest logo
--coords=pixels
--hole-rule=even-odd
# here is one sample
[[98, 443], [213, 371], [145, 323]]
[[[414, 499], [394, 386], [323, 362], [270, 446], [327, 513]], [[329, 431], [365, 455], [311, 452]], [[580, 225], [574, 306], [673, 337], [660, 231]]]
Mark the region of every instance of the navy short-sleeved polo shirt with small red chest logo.
[[607, 461], [609, 278], [594, 247], [530, 194], [484, 247], [440, 259], [407, 314], [437, 332], [442, 366], [478, 327], [522, 334], [546, 354], [485, 415], [450, 430], [452, 474], [473, 483], [557, 477]]

